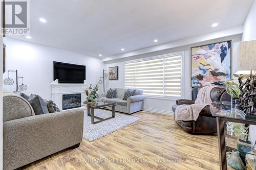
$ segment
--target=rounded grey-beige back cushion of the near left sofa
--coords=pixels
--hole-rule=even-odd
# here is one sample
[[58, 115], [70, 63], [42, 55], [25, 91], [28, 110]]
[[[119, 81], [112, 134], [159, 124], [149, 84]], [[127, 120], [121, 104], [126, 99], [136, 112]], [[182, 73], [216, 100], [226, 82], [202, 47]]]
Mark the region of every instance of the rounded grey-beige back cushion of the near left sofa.
[[33, 108], [22, 96], [3, 94], [3, 122], [35, 115]]

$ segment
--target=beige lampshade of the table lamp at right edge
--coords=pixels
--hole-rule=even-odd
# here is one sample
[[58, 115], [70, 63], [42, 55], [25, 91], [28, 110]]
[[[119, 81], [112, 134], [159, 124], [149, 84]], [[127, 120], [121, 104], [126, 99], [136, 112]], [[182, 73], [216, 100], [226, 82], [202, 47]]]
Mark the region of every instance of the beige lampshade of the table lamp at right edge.
[[236, 54], [239, 57], [238, 70], [256, 70], [256, 40], [240, 42]]

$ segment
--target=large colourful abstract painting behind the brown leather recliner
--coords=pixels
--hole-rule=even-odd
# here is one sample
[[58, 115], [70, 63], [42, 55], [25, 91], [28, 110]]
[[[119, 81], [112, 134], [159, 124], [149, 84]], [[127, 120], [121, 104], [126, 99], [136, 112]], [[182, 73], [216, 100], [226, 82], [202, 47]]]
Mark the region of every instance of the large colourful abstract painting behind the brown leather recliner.
[[191, 86], [223, 86], [231, 77], [231, 41], [191, 48]]

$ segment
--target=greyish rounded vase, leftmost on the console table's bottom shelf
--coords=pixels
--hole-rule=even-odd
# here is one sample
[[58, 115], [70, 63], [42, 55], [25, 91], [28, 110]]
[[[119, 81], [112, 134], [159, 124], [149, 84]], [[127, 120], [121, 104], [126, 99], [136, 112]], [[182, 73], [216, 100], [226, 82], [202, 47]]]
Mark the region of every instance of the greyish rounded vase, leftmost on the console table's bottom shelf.
[[238, 151], [232, 151], [231, 152], [227, 152], [227, 154], [230, 154], [230, 157], [227, 160], [227, 164], [237, 170], [244, 170], [245, 169], [245, 165], [242, 161], [242, 159], [239, 156], [239, 152]]

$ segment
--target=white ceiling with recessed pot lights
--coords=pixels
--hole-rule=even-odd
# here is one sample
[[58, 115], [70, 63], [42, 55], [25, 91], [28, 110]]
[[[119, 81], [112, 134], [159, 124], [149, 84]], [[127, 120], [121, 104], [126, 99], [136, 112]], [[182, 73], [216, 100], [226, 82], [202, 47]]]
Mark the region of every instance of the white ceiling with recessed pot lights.
[[[104, 58], [242, 25], [252, 2], [30, 0], [32, 39], [13, 38]], [[214, 22], [219, 26], [212, 28]]]

